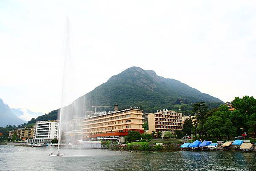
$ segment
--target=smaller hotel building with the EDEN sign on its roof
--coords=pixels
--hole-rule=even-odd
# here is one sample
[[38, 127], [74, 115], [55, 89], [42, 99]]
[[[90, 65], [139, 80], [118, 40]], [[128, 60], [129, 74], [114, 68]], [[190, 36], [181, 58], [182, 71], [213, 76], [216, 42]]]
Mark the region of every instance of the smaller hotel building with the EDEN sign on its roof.
[[164, 110], [148, 115], [148, 132], [152, 130], [155, 132], [182, 130], [182, 113], [175, 111]]

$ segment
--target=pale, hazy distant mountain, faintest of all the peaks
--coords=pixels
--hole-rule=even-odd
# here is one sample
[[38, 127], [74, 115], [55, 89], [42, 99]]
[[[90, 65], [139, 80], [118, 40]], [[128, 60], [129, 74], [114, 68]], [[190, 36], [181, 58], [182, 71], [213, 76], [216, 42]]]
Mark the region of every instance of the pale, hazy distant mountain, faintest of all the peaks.
[[29, 121], [32, 118], [37, 118], [38, 116], [44, 115], [44, 113], [42, 112], [32, 112], [31, 110], [23, 108], [11, 108], [11, 110], [12, 113], [14, 113], [16, 116], [24, 121]]

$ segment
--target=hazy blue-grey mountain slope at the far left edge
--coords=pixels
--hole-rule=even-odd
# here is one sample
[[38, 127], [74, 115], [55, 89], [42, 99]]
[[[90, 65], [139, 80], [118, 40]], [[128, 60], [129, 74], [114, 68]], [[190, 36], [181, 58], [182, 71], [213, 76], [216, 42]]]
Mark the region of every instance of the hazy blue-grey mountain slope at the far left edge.
[[0, 127], [6, 127], [6, 125], [19, 125], [25, 123], [25, 121], [18, 118], [8, 106], [4, 104], [0, 99]]

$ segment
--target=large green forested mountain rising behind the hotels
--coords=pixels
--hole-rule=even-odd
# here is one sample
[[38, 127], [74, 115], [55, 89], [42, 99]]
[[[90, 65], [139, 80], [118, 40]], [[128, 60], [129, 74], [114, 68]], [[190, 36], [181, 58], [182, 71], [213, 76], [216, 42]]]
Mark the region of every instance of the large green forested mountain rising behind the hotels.
[[[212, 107], [224, 103], [175, 79], [163, 78], [154, 71], [131, 67], [79, 97], [65, 107], [65, 111], [83, 115], [84, 110], [94, 110], [92, 106], [113, 106], [117, 103], [119, 109], [141, 106], [145, 112], [156, 112], [163, 108], [178, 110], [180, 104], [191, 107], [193, 103], [201, 101]], [[113, 107], [98, 107], [97, 110], [113, 110]]]

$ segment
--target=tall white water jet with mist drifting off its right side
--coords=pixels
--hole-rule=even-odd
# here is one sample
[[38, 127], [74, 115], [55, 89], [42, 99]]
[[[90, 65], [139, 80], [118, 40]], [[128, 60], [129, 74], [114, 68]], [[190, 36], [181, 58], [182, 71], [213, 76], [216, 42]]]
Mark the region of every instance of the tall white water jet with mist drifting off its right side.
[[[77, 85], [79, 85], [81, 79], [86, 79], [88, 74], [87, 72], [82, 72], [84, 73], [82, 75], [83, 78], [80, 76], [78, 79], [77, 75], [81, 73], [81, 68], [77, 70], [77, 72], [76, 69], [78, 68], [78, 64], [81, 63], [81, 60], [79, 57], [75, 59], [71, 55], [71, 41], [71, 25], [67, 17], [64, 38], [61, 108], [58, 113], [58, 154], [62, 144], [66, 144], [67, 146], [69, 143], [79, 143], [78, 140], [81, 139], [81, 119], [84, 118], [85, 111], [88, 110], [88, 106], [90, 106], [86, 104], [90, 99], [86, 99], [84, 96], [78, 98], [79, 95], [76, 95]], [[84, 62], [82, 64], [84, 64]]]

